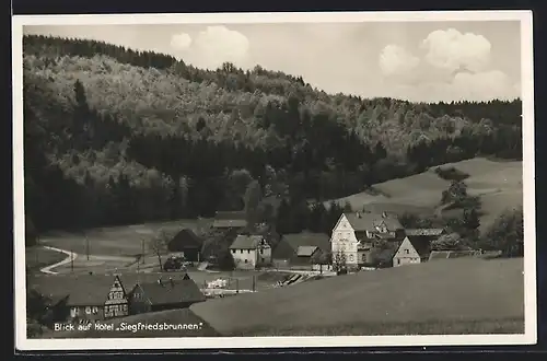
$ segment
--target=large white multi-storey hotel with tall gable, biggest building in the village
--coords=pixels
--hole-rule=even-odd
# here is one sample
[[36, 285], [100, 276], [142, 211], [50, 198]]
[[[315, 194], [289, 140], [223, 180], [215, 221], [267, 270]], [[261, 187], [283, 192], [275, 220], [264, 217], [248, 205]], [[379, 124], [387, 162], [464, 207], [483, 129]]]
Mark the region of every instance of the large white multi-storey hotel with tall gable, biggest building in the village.
[[330, 237], [333, 261], [344, 261], [349, 269], [373, 265], [373, 248], [379, 241], [395, 242], [405, 237], [405, 230], [393, 214], [344, 213]]

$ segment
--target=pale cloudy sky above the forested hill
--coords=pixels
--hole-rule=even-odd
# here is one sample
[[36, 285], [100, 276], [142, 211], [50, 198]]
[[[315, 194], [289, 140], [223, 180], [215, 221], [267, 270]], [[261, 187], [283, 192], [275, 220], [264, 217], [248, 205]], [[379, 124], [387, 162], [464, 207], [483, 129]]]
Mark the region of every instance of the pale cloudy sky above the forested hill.
[[364, 97], [488, 101], [517, 97], [521, 88], [517, 21], [33, 25], [24, 33], [150, 49], [200, 68], [260, 65]]

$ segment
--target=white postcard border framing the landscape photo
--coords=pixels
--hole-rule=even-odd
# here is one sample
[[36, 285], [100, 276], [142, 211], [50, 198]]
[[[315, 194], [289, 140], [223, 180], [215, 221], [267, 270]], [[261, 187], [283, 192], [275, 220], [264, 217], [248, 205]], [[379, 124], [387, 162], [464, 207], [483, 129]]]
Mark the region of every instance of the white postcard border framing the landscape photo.
[[[220, 349], [289, 347], [386, 347], [386, 346], [493, 346], [532, 345], [537, 341], [534, 83], [532, 12], [446, 11], [446, 12], [317, 12], [317, 13], [201, 13], [201, 14], [101, 14], [101, 15], [15, 15], [12, 18], [13, 65], [13, 185], [14, 185], [14, 281], [15, 347], [39, 350], [116, 349]], [[23, 176], [23, 61], [24, 25], [91, 24], [234, 24], [234, 23], [337, 23], [337, 22], [427, 22], [427, 21], [520, 21], [521, 90], [523, 106], [523, 208], [525, 333], [523, 335], [432, 335], [432, 336], [334, 336], [334, 337], [213, 337], [213, 338], [102, 338], [27, 339], [24, 246]]]

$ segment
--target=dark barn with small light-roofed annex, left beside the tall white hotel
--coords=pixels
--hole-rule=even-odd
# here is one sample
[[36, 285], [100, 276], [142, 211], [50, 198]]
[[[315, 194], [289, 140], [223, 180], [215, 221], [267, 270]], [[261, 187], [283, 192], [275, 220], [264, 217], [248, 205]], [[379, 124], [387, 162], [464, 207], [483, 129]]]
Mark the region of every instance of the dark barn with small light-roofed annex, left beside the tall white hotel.
[[281, 237], [274, 249], [274, 266], [280, 269], [327, 270], [329, 238], [324, 233], [295, 233]]

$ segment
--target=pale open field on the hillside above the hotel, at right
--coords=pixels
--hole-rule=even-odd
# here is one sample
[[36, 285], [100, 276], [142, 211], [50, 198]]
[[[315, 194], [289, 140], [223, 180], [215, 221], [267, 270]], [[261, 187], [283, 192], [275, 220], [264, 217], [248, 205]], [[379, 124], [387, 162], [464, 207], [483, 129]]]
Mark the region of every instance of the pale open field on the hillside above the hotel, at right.
[[[505, 208], [522, 206], [522, 162], [496, 162], [484, 158], [444, 164], [454, 166], [469, 174], [465, 179], [468, 194], [479, 196], [482, 201], [480, 217], [481, 230], [485, 230]], [[433, 214], [441, 200], [441, 194], [450, 182], [434, 173], [435, 167], [406, 178], [393, 179], [374, 185], [380, 195], [363, 191], [345, 198], [353, 209], [365, 207], [372, 211], [414, 212], [423, 216]], [[328, 202], [327, 202], [328, 203]]]

